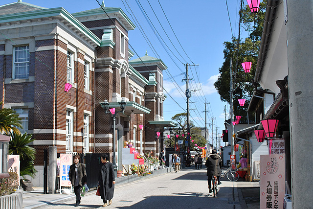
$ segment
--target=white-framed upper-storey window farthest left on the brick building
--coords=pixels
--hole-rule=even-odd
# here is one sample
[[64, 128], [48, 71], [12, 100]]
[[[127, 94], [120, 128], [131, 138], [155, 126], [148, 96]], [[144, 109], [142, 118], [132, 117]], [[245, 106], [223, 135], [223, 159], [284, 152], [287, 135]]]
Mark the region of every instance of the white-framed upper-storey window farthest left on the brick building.
[[[19, 52], [22, 52], [19, 53]], [[19, 57], [22, 55], [22, 57]], [[13, 79], [29, 77], [29, 45], [16, 46], [13, 50]]]

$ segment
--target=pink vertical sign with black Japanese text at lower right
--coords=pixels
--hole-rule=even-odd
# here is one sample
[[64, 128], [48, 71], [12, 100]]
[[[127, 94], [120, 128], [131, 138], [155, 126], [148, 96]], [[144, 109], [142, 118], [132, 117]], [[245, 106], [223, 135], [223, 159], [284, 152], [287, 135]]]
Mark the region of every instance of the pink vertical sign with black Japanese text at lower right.
[[283, 209], [285, 154], [261, 155], [260, 209]]

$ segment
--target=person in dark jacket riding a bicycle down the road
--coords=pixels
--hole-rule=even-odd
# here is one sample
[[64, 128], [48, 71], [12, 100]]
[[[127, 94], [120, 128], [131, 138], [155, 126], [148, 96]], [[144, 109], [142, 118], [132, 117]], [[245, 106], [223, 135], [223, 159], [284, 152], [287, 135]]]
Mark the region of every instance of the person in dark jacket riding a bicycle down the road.
[[213, 149], [212, 150], [212, 155], [210, 155], [205, 162], [205, 166], [207, 167], [207, 183], [209, 185], [209, 192], [212, 192], [211, 189], [211, 181], [212, 181], [212, 176], [216, 176], [219, 181], [219, 185], [222, 184], [220, 180], [221, 176], [221, 168], [222, 168], [222, 159], [221, 157], [217, 154], [217, 150]]

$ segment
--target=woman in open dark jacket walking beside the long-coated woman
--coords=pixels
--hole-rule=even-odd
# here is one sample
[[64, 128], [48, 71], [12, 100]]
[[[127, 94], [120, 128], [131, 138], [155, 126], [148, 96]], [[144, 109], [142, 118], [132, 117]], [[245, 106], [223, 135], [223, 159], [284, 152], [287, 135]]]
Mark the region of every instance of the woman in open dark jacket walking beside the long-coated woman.
[[78, 207], [80, 200], [82, 199], [80, 196], [80, 190], [82, 186], [87, 184], [87, 173], [85, 164], [80, 162], [79, 155], [75, 155], [73, 161], [74, 163], [69, 167], [68, 177], [74, 187], [74, 193], [76, 195], [75, 207]]

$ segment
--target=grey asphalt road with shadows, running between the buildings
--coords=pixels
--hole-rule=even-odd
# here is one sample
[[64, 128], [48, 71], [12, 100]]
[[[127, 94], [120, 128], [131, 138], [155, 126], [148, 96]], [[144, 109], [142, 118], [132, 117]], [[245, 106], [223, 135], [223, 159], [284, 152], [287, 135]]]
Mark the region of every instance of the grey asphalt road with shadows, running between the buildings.
[[[224, 180], [224, 181], [223, 181]], [[75, 199], [49, 204], [45, 208], [74, 208]], [[102, 208], [103, 202], [95, 191], [82, 197], [77, 208]], [[43, 208], [43, 207], [41, 207]], [[241, 209], [236, 183], [222, 179], [216, 198], [208, 193], [205, 169], [187, 168], [179, 173], [156, 177], [115, 187], [110, 209]]]

